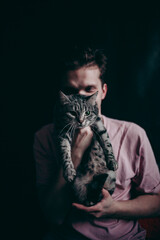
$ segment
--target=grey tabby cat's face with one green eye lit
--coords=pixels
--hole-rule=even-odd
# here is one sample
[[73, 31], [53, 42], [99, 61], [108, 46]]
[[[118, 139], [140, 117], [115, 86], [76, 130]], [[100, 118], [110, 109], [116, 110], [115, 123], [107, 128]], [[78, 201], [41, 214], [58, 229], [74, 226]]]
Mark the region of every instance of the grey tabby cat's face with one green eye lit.
[[75, 128], [91, 126], [98, 116], [96, 97], [98, 92], [91, 96], [80, 94], [65, 95], [60, 92], [61, 119], [72, 123]]

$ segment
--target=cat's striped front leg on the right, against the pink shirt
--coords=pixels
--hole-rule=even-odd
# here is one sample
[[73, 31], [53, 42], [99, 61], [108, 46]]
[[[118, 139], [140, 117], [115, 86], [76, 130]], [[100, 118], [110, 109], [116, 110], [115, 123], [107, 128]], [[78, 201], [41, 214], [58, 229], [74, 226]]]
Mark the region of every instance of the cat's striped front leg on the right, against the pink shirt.
[[99, 143], [104, 151], [107, 168], [113, 171], [117, 170], [118, 164], [114, 157], [112, 144], [110, 142], [107, 130], [104, 127], [100, 117], [97, 118], [97, 121], [94, 123], [94, 125], [91, 128], [96, 133], [96, 136], [99, 139]]

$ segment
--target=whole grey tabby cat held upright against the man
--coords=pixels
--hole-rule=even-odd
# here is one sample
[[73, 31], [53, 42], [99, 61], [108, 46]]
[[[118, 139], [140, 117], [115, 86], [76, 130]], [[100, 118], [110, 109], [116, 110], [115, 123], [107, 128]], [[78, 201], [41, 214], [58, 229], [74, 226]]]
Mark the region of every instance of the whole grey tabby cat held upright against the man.
[[[112, 145], [96, 103], [97, 93], [92, 96], [60, 93], [56, 128], [64, 178], [72, 183], [77, 202], [93, 205], [101, 200], [102, 188], [111, 194], [115, 189], [117, 162]], [[90, 126], [94, 135], [77, 170], [71, 159], [71, 145], [75, 130]]]

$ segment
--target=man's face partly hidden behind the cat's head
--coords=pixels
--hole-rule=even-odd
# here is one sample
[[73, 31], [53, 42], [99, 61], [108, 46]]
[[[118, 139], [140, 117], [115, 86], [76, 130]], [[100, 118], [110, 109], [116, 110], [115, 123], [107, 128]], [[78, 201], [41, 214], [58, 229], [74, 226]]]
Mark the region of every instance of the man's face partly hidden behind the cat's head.
[[90, 96], [98, 91], [96, 98], [99, 114], [101, 115], [101, 102], [107, 93], [107, 85], [100, 80], [100, 70], [97, 66], [82, 67], [77, 70], [69, 71], [64, 84], [66, 94], [79, 93]]

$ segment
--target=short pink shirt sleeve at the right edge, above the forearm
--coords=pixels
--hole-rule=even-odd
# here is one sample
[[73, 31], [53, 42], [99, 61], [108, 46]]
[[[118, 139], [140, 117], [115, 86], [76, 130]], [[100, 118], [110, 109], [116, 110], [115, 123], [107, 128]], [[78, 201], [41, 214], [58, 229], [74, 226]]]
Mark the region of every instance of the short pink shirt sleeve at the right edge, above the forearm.
[[140, 193], [160, 193], [160, 173], [155, 156], [144, 131], [139, 148], [139, 166], [136, 177], [136, 191]]

